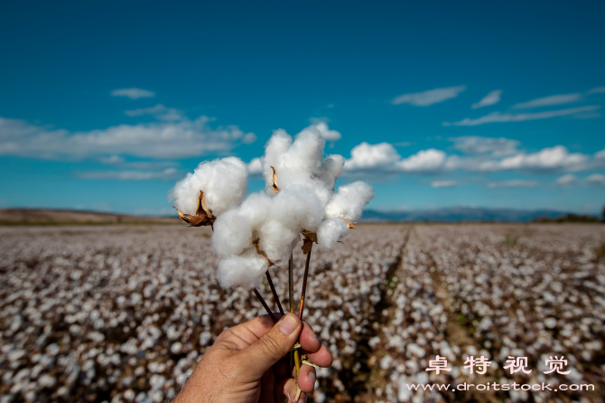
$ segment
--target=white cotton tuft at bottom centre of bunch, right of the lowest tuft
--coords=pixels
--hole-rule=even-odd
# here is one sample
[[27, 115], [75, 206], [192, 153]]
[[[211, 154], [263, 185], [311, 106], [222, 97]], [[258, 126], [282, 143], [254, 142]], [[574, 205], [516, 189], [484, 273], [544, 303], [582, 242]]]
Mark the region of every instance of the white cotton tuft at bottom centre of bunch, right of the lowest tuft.
[[265, 222], [258, 235], [258, 248], [275, 264], [290, 258], [290, 253], [298, 240], [298, 230], [288, 228], [278, 220]]

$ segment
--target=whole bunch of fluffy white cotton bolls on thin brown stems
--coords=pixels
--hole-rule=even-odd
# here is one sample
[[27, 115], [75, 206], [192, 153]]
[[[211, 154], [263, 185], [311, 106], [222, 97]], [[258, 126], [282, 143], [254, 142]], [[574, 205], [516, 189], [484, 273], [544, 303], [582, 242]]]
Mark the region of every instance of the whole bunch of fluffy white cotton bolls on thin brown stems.
[[[220, 258], [220, 285], [252, 289], [274, 322], [274, 314], [256, 289], [266, 276], [284, 314], [269, 267], [288, 267], [290, 312], [294, 312], [293, 249], [302, 239], [302, 253], [306, 255], [298, 311], [302, 319], [313, 244], [323, 250], [332, 248], [355, 228], [353, 223], [374, 197], [372, 187], [363, 182], [334, 191], [345, 159], [341, 155], [324, 157], [324, 145], [315, 127], [302, 130], [294, 139], [284, 130], [276, 130], [259, 159], [265, 192], [246, 198], [247, 166], [236, 157], [201, 163], [172, 190], [181, 220], [191, 226], [213, 228], [212, 247]], [[293, 361], [298, 376], [298, 348], [293, 351]], [[296, 398], [299, 394], [300, 389]]]

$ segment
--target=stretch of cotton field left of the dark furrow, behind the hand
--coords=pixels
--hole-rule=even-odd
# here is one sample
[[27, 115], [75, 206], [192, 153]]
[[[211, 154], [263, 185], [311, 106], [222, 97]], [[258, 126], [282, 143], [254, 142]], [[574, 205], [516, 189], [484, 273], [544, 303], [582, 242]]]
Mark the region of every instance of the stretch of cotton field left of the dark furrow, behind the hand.
[[[209, 227], [0, 229], [0, 401], [172, 396], [217, 334], [256, 316], [249, 291], [220, 289], [210, 242], [191, 248], [209, 234]], [[364, 226], [346, 248], [314, 248], [305, 320], [335, 357], [340, 352], [333, 368], [317, 372], [316, 401], [346, 393], [335, 389], [341, 362], [373, 318], [370, 301], [385, 282], [377, 268], [386, 271], [400, 238]], [[301, 280], [304, 261], [294, 253]], [[287, 287], [287, 271], [274, 275]], [[259, 290], [270, 292], [266, 284]]]

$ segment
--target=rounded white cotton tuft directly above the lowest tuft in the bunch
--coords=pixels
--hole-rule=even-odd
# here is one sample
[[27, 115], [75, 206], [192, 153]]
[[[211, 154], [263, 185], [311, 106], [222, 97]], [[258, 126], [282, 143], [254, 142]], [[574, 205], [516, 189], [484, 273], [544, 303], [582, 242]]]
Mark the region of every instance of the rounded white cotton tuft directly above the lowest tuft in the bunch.
[[252, 247], [252, 224], [238, 210], [229, 210], [214, 222], [212, 248], [219, 256], [239, 255]]

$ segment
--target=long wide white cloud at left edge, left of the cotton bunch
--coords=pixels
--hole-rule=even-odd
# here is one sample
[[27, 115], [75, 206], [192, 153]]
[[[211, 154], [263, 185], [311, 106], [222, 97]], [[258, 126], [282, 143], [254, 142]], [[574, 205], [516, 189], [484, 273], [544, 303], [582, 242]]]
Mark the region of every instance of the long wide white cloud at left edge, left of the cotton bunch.
[[209, 117], [179, 122], [119, 125], [70, 133], [0, 117], [0, 155], [39, 158], [82, 158], [94, 155], [135, 155], [187, 158], [228, 153], [256, 140], [237, 126], [212, 128]]

